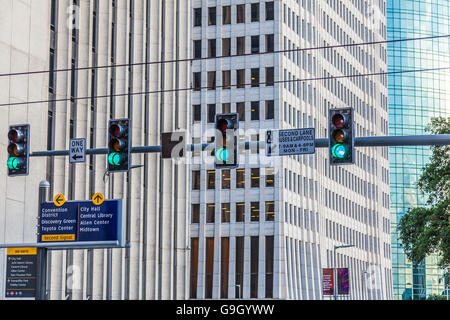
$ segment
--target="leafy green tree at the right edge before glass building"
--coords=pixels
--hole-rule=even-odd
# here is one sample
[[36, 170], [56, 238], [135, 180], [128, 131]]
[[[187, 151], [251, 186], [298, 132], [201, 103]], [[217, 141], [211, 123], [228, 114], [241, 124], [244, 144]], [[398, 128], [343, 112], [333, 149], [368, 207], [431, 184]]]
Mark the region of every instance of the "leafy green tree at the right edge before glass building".
[[[450, 118], [433, 118], [427, 131], [450, 134]], [[435, 253], [439, 267], [450, 264], [450, 146], [432, 146], [430, 161], [417, 185], [427, 197], [425, 207], [409, 208], [400, 219], [399, 238], [409, 260], [420, 263]]]

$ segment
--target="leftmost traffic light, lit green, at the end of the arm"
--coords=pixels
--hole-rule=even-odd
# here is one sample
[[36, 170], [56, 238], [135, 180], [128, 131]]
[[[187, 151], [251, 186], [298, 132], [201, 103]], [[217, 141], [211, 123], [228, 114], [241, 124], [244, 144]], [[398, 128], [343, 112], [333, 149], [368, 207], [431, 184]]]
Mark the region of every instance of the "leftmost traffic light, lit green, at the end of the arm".
[[30, 163], [30, 125], [9, 126], [8, 176], [27, 176]]

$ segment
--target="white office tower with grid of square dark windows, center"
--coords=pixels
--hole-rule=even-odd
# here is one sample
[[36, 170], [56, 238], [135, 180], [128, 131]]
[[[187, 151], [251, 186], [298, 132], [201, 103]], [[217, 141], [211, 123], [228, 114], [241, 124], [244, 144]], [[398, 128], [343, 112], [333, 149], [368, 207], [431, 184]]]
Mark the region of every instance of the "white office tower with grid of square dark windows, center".
[[[192, 142], [212, 142], [229, 112], [241, 142], [267, 129], [326, 138], [339, 107], [354, 108], [357, 137], [387, 135], [386, 76], [371, 75], [386, 71], [386, 44], [359, 45], [385, 40], [385, 19], [378, 0], [193, 0]], [[350, 276], [338, 299], [391, 299], [388, 152], [356, 150], [331, 167], [326, 148], [241, 148], [239, 168], [216, 171], [211, 151], [194, 152], [190, 297], [333, 299], [322, 269], [338, 267]]]

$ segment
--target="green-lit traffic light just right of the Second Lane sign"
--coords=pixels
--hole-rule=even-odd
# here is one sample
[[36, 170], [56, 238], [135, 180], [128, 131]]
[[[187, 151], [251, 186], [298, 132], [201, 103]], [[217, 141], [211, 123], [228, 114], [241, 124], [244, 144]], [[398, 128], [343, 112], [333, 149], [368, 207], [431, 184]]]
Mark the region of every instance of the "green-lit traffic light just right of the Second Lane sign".
[[330, 165], [354, 164], [353, 109], [330, 109], [328, 115]]

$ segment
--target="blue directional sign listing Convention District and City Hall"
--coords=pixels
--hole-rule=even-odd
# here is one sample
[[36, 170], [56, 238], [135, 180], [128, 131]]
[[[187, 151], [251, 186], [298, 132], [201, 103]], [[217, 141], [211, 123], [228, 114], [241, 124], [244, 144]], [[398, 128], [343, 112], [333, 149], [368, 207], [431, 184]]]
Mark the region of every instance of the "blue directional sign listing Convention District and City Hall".
[[39, 242], [102, 242], [124, 244], [122, 200], [105, 200], [101, 205], [92, 201], [67, 201], [57, 207], [41, 203]]

